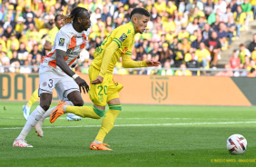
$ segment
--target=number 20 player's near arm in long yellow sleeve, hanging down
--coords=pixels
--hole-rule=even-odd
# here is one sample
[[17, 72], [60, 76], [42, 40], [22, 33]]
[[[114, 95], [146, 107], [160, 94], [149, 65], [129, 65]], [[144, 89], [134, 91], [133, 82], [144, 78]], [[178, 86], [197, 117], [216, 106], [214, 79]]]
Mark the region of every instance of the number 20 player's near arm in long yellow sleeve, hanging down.
[[118, 48], [119, 48], [119, 45], [114, 41], [107, 46], [107, 48], [105, 49], [104, 55], [103, 55], [103, 63], [101, 66], [100, 74], [94, 81], [92, 81], [92, 84], [103, 83], [103, 77], [106, 74], [108, 64], [110, 63], [110, 61], [112, 59], [113, 53]]

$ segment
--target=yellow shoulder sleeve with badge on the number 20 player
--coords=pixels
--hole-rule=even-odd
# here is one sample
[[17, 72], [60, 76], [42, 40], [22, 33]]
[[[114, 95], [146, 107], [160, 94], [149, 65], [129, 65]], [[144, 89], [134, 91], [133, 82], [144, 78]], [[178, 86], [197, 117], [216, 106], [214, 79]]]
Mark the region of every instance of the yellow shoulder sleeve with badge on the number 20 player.
[[119, 48], [123, 45], [123, 44], [128, 44], [125, 43], [127, 40], [127, 38], [131, 38], [133, 36], [133, 34], [131, 33], [130, 30], [128, 29], [124, 29], [124, 30], [119, 30], [114, 36], [113, 36], [113, 41], [115, 43], [118, 44]]

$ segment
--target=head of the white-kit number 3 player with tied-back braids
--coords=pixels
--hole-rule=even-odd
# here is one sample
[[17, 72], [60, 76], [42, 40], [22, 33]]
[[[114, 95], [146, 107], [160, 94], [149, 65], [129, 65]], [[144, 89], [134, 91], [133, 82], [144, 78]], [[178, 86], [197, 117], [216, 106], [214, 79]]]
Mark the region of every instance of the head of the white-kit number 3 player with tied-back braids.
[[64, 17], [64, 23], [74, 23], [78, 25], [78, 29], [86, 31], [91, 26], [90, 14], [84, 7], [74, 7], [68, 16]]

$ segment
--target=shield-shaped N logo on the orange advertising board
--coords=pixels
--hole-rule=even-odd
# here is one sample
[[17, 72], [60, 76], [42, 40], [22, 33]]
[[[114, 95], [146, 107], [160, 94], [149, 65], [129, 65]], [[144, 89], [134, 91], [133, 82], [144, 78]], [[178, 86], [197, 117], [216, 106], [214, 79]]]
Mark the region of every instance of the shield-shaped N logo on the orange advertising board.
[[158, 103], [166, 100], [168, 97], [168, 77], [152, 78], [152, 97]]

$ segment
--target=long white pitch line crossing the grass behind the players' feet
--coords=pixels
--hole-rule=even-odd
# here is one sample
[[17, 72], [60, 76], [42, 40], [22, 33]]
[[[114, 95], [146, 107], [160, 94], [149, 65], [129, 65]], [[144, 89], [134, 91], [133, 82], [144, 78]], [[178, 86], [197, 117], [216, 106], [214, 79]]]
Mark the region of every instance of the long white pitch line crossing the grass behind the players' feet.
[[[225, 122], [225, 123], [155, 123], [155, 124], [116, 124], [115, 127], [143, 127], [143, 126], [178, 126], [178, 125], [203, 125], [203, 124], [236, 124], [236, 123], [256, 123], [256, 122]], [[43, 128], [89, 128], [100, 127], [101, 125], [83, 125], [83, 126], [45, 126]], [[22, 129], [23, 127], [0, 128], [0, 130]]]

